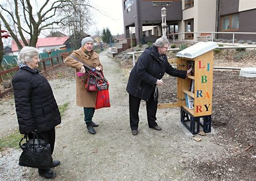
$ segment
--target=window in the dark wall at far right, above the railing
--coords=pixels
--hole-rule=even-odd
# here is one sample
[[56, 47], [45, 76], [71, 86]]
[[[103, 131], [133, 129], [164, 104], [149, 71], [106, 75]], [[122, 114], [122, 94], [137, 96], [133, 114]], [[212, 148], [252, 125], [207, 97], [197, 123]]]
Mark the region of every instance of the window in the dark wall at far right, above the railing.
[[221, 31], [234, 31], [239, 29], [239, 14], [229, 14], [221, 17]]

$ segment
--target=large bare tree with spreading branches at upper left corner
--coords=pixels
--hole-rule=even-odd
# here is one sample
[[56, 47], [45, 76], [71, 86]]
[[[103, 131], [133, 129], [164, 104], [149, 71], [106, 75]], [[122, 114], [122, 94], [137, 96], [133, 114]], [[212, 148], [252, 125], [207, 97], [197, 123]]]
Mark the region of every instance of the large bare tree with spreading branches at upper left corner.
[[[58, 9], [72, 6], [71, 0], [40, 1], [39, 9], [33, 8], [36, 0], [10, 0], [6, 4], [0, 4], [0, 18], [4, 26], [10, 32], [19, 49], [22, 43], [25, 46], [36, 47], [38, 36], [44, 29], [52, 28], [53, 24], [63, 24], [68, 17], [56, 16]], [[13, 6], [14, 5], [14, 6]], [[14, 25], [14, 28], [13, 28]], [[17, 33], [16, 33], [17, 28]], [[29, 41], [26, 40], [29, 37]], [[22, 43], [19, 42], [19, 38]]]

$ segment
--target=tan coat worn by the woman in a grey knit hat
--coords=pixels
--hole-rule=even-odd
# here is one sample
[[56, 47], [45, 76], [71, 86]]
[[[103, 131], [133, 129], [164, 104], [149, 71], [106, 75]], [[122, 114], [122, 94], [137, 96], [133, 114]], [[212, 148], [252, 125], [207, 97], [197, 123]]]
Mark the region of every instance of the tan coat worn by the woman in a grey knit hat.
[[[101, 67], [103, 69], [102, 64], [100, 62], [99, 55], [93, 52], [91, 58], [87, 56], [84, 52], [83, 48], [77, 49], [73, 51], [73, 56], [76, 56], [80, 61], [86, 63], [88, 66], [92, 67]], [[75, 59], [71, 57], [67, 57], [64, 61], [68, 67], [75, 68], [75, 72], [79, 72], [81, 67], [83, 66], [82, 63], [77, 62]], [[86, 108], [94, 108], [96, 104], [96, 92], [88, 92], [85, 89], [85, 83], [87, 79], [87, 74], [84, 76], [78, 77], [76, 76], [76, 104], [80, 107]]]

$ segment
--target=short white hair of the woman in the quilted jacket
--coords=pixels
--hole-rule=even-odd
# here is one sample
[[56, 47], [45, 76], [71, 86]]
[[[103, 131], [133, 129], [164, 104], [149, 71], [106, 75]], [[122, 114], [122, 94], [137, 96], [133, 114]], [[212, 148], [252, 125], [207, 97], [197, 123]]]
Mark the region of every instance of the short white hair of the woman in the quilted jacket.
[[35, 47], [23, 47], [19, 52], [18, 63], [31, 62], [32, 58], [38, 56], [39, 52]]

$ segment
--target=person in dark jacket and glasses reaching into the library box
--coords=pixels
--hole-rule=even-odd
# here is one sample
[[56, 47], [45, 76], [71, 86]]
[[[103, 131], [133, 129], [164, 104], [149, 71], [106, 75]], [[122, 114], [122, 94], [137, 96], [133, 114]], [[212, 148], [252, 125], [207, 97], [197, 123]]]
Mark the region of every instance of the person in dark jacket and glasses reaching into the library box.
[[161, 127], [156, 123], [157, 86], [164, 85], [161, 78], [165, 72], [170, 76], [180, 78], [185, 78], [191, 72], [191, 69], [181, 71], [171, 67], [166, 56], [168, 46], [169, 41], [167, 38], [156, 39], [156, 42], [151, 47], [145, 49], [131, 70], [126, 90], [129, 93], [130, 127], [133, 135], [137, 135], [141, 99], [146, 101], [149, 127], [161, 130]]

